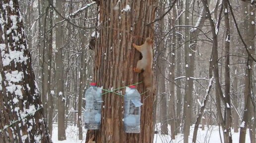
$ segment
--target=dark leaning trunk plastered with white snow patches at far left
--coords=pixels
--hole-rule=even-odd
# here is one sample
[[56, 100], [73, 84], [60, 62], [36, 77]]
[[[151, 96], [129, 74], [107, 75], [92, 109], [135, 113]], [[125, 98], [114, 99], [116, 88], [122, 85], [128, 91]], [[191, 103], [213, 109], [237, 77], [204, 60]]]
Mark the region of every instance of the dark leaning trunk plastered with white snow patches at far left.
[[51, 143], [18, 0], [0, 13], [0, 143]]

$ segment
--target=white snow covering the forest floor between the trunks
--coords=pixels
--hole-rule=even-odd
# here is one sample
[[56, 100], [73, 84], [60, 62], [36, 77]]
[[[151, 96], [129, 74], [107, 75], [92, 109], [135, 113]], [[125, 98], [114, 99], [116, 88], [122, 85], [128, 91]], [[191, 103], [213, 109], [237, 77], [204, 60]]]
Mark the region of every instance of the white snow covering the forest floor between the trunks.
[[[157, 127], [158, 129], [160, 127]], [[191, 132], [189, 136], [190, 143], [192, 143], [193, 136], [193, 126], [191, 127]], [[221, 129], [221, 128], [220, 128]], [[54, 125], [53, 129], [53, 143], [85, 143], [86, 130], [83, 130], [83, 139], [78, 140], [78, 128], [76, 126], [68, 126], [66, 129], [66, 140], [58, 141], [58, 126]], [[221, 131], [221, 138], [223, 141], [223, 135]], [[233, 143], [239, 143], [239, 133], [234, 133], [232, 130], [232, 139]], [[168, 135], [155, 134], [153, 143], [183, 143], [183, 134], [176, 136], [176, 140], [171, 140], [171, 137]], [[201, 128], [198, 129], [197, 133], [197, 142], [196, 143], [221, 143], [219, 136], [219, 127], [218, 126], [209, 126], [205, 127], [205, 130], [202, 131]], [[250, 143], [249, 130], [246, 134], [246, 143]]]

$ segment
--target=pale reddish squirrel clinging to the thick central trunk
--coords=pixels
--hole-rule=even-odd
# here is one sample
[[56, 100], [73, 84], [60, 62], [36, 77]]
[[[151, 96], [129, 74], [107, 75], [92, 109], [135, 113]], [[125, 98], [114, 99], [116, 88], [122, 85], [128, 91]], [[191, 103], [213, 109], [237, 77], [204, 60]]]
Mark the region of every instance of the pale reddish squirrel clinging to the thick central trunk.
[[152, 44], [153, 40], [150, 37], [147, 37], [144, 44], [138, 46], [132, 43], [132, 46], [136, 48], [141, 54], [142, 59], [137, 62], [137, 67], [133, 68], [134, 72], [140, 73], [143, 72], [143, 82], [147, 90], [154, 90], [152, 86], [152, 63], [153, 63], [153, 54], [152, 54]]

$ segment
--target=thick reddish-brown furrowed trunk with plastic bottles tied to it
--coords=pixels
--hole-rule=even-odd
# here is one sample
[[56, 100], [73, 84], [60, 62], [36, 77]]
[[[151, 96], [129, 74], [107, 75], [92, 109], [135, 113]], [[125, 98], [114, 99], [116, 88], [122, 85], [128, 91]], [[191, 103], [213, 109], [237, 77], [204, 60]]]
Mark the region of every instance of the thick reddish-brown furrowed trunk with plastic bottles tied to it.
[[[140, 45], [146, 37], [153, 37], [154, 25], [146, 24], [155, 19], [156, 0], [100, 0], [99, 7], [100, 35], [95, 46], [94, 81], [105, 89], [138, 83], [142, 74], [132, 69], [140, 54], [131, 43]], [[142, 83], [136, 87], [140, 93], [146, 91]], [[94, 134], [96, 143], [153, 143], [154, 99], [154, 92], [141, 95], [140, 133], [126, 134], [123, 97], [104, 94], [100, 130], [87, 132], [87, 137]]]

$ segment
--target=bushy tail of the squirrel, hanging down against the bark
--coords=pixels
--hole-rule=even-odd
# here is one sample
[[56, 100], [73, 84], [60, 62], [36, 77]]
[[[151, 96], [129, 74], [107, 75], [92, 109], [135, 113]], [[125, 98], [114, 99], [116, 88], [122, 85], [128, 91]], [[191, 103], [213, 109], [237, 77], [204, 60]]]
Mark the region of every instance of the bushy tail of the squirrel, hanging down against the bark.
[[144, 70], [143, 72], [143, 82], [144, 82], [144, 86], [146, 87], [147, 90], [149, 91], [153, 91], [155, 90], [155, 81], [152, 75], [152, 69], [151, 68], [147, 68]]

